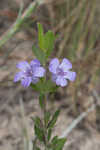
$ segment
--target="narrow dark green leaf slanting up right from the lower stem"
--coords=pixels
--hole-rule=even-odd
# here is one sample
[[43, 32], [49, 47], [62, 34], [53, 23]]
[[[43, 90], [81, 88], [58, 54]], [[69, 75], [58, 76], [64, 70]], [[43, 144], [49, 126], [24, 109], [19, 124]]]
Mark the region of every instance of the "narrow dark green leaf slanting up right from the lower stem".
[[57, 121], [57, 119], [58, 119], [59, 113], [60, 113], [60, 110], [57, 110], [57, 111], [54, 113], [54, 115], [53, 115], [51, 121], [50, 121], [49, 124], [48, 124], [48, 128], [53, 128], [53, 127], [55, 126], [55, 123], [56, 123], [56, 121]]

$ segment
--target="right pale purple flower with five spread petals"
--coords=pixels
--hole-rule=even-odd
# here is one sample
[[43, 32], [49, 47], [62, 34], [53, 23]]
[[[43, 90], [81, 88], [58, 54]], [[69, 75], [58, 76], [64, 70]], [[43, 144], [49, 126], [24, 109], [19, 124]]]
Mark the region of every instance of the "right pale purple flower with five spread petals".
[[57, 85], [64, 87], [67, 85], [67, 80], [74, 81], [76, 78], [76, 72], [72, 72], [69, 69], [72, 69], [71, 62], [64, 58], [61, 63], [57, 58], [51, 60], [49, 64], [49, 71], [52, 73], [52, 80]]

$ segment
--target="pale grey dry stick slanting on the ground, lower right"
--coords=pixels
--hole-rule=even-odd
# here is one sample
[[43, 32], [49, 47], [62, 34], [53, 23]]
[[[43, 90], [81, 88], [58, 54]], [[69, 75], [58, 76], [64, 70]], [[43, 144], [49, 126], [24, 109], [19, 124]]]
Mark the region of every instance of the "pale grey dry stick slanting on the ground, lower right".
[[73, 131], [73, 129], [95, 108], [96, 108], [96, 105], [92, 105], [86, 112], [83, 112], [82, 114], [80, 114], [74, 121], [72, 121], [70, 126], [67, 128], [67, 130], [64, 131], [64, 133], [60, 136], [60, 138], [67, 137]]

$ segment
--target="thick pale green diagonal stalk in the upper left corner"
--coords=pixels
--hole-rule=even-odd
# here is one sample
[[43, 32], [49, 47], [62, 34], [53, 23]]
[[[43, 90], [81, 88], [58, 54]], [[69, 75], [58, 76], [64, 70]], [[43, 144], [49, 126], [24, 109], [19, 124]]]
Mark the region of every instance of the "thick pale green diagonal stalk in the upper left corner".
[[16, 20], [16, 22], [8, 29], [6, 33], [0, 38], [0, 47], [2, 47], [21, 27], [24, 21], [30, 17], [32, 12], [35, 11], [38, 5], [40, 5], [40, 1], [32, 2], [29, 7], [25, 10], [23, 15]]

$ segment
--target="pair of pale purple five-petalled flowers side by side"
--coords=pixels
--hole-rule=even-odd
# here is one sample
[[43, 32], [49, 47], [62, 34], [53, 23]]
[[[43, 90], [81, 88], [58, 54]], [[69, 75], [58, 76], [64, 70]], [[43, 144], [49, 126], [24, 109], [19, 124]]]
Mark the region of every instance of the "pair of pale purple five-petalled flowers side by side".
[[[37, 59], [32, 60], [30, 64], [27, 61], [22, 61], [17, 64], [17, 68], [21, 71], [16, 73], [14, 82], [21, 80], [21, 84], [24, 87], [28, 87], [31, 83], [36, 84], [39, 78], [44, 77], [46, 72]], [[67, 85], [67, 79], [74, 81], [76, 72], [72, 72], [70, 69], [72, 69], [72, 64], [68, 59], [64, 58], [61, 63], [57, 58], [52, 59], [49, 64], [52, 81], [61, 87]]]

